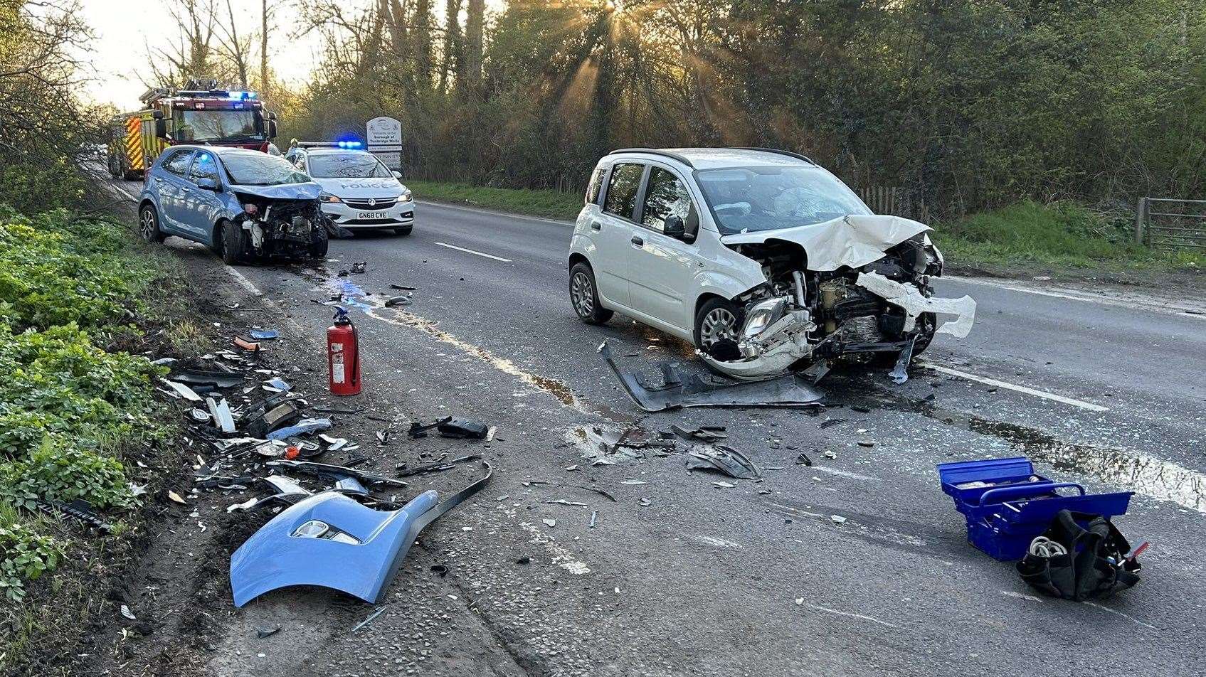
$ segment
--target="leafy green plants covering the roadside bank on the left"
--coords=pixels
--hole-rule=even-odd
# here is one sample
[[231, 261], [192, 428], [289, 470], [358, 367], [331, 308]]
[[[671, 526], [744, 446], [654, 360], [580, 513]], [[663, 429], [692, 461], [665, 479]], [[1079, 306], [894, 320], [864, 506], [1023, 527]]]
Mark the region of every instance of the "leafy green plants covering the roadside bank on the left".
[[[172, 276], [125, 225], [0, 205], [0, 673], [58, 673], [48, 644], [86, 622], [136, 529], [135, 460], [171, 425], [154, 401], [166, 370], [137, 353], [172, 337]], [[60, 518], [72, 501], [112, 530]]]

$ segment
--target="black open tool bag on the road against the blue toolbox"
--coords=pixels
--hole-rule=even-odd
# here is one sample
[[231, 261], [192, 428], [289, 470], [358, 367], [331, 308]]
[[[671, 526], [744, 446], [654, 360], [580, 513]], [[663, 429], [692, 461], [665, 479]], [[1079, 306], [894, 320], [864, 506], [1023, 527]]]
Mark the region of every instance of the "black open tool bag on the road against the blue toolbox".
[[1130, 543], [1100, 514], [1061, 510], [1043, 536], [1064, 546], [1067, 554], [1026, 554], [1018, 563], [1018, 573], [1048, 595], [1081, 601], [1138, 583], [1140, 564], [1134, 557], [1126, 559]]

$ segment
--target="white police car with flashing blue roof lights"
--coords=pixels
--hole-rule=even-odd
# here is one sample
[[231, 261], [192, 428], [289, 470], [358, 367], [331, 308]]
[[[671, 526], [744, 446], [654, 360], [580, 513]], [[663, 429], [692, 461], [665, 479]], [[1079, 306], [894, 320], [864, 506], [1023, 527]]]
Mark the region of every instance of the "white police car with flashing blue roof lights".
[[415, 225], [415, 198], [358, 142], [294, 141], [285, 159], [322, 187], [322, 212], [350, 230], [392, 229], [406, 235]]

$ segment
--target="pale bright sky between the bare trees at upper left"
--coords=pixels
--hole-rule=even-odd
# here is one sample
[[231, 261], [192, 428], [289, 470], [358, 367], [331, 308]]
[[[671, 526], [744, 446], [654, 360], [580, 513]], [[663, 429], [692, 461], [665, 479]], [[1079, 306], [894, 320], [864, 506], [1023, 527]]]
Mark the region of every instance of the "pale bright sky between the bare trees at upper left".
[[[219, 2], [224, 10], [226, 2]], [[302, 82], [318, 59], [318, 39], [316, 35], [291, 39], [294, 11], [288, 2], [277, 4], [279, 37], [271, 40], [269, 65], [282, 81]], [[169, 4], [163, 0], [80, 0], [80, 5], [81, 18], [95, 34], [92, 49], [83, 55], [94, 69], [83, 98], [113, 104], [123, 111], [141, 107], [139, 95], [146, 92], [146, 86], [139, 76], [151, 77], [146, 46], [163, 46], [178, 35], [168, 12]], [[232, 5], [239, 34], [258, 34], [260, 1], [232, 0]], [[258, 64], [258, 57], [256, 59]]]

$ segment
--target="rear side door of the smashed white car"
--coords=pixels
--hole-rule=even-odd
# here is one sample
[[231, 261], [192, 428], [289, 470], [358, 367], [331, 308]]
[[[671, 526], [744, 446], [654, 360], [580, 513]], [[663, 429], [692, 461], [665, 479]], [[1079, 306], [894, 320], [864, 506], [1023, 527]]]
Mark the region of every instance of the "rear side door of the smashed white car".
[[628, 306], [628, 251], [636, 228], [637, 193], [645, 173], [642, 163], [611, 166], [603, 192], [603, 207], [590, 224], [597, 255], [591, 260], [598, 293], [614, 304]]

